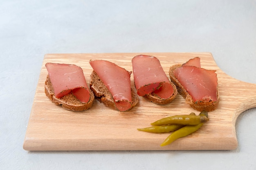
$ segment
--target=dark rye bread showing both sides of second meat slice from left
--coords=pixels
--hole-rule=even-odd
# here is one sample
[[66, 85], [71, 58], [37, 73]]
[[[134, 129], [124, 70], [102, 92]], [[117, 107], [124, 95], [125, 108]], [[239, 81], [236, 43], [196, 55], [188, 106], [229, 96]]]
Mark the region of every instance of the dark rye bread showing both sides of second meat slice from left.
[[[95, 71], [92, 71], [92, 74], [90, 76], [90, 89], [93, 91], [95, 99], [97, 99], [99, 102], [103, 103], [106, 107], [112, 110], [118, 110], [115, 106], [115, 101], [110, 91], [104, 85], [104, 83], [101, 81], [101, 79], [99, 78], [99, 76]], [[131, 88], [131, 95], [132, 95], [132, 106], [130, 109], [136, 106], [136, 104], [139, 102], [139, 97], [137, 93], [132, 90], [132, 88]]]

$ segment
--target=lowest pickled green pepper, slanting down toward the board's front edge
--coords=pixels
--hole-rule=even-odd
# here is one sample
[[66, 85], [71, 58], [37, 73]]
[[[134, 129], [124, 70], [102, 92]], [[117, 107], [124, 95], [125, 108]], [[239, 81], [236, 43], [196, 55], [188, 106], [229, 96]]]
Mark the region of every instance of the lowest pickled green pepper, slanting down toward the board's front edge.
[[180, 128], [180, 129], [174, 131], [173, 133], [171, 133], [171, 135], [169, 135], [160, 146], [166, 146], [168, 144], [171, 144], [176, 139], [188, 136], [191, 133], [197, 131], [202, 125], [203, 125], [203, 123], [198, 124], [198, 125], [184, 126], [183, 128]]

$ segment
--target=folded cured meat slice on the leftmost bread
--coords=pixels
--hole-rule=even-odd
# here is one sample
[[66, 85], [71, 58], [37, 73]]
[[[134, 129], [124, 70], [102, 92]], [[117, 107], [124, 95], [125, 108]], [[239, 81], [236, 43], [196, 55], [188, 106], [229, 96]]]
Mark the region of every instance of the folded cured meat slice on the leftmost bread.
[[46, 63], [45, 67], [57, 98], [72, 92], [82, 103], [89, 102], [90, 92], [81, 67], [58, 63]]

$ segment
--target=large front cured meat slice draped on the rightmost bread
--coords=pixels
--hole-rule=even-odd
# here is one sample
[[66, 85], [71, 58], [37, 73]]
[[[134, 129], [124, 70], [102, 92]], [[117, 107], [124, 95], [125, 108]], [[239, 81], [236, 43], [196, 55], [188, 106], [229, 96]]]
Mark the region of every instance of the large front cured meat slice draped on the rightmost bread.
[[217, 74], [196, 66], [182, 66], [173, 71], [194, 102], [217, 101]]

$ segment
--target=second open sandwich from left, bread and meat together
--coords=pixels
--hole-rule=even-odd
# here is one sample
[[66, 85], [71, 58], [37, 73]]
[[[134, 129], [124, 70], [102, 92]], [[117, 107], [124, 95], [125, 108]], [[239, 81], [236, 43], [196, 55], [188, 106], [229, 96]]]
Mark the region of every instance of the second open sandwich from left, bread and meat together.
[[128, 111], [139, 101], [131, 88], [130, 74], [125, 68], [106, 60], [91, 60], [93, 68], [90, 89], [95, 99], [112, 110]]

